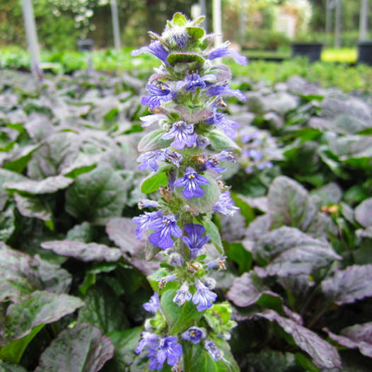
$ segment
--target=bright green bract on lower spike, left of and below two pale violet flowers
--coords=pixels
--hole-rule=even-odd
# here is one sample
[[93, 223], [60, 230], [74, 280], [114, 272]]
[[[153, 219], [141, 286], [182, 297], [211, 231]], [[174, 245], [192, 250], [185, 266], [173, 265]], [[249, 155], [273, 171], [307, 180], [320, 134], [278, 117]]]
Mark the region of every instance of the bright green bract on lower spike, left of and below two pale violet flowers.
[[161, 296], [161, 310], [168, 322], [170, 335], [176, 335], [182, 332], [192, 323], [197, 322], [202, 318], [203, 312], [197, 310], [197, 306], [192, 301], [187, 301], [182, 306], [178, 306], [173, 302], [176, 290], [169, 289]]

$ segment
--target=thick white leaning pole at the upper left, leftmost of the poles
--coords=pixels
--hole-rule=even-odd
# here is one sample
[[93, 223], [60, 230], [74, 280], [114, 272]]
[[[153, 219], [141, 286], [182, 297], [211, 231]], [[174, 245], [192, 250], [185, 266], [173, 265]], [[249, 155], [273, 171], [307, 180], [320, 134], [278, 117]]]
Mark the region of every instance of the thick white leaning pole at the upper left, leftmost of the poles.
[[22, 0], [23, 19], [25, 20], [25, 31], [28, 43], [28, 50], [31, 58], [31, 71], [35, 78], [40, 76], [40, 50], [37, 44], [35, 18], [31, 0]]

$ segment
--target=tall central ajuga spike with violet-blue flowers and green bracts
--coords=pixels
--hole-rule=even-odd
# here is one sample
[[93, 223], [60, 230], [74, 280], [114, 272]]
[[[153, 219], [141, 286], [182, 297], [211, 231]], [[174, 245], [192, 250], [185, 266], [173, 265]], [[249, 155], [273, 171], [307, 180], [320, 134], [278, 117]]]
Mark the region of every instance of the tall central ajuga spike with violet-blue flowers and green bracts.
[[[175, 13], [162, 35], [149, 32], [151, 44], [132, 51], [161, 60], [146, 85], [149, 95], [141, 100], [151, 112], [141, 117], [142, 126], [157, 127], [139, 142], [137, 159], [140, 170], [153, 171], [141, 191], [159, 190], [161, 197], [141, 200], [139, 208], [147, 211], [133, 219], [139, 225], [136, 238], [147, 236], [146, 258], [158, 252], [165, 257], [149, 278], [154, 294], [144, 308], [152, 317], [136, 349], [158, 371], [238, 371], [227, 343], [236, 322], [230, 305], [216, 301], [211, 277], [213, 270], [226, 268], [212, 218], [238, 209], [221, 177], [222, 165], [236, 161], [232, 137], [239, 127], [223, 112], [223, 98], [245, 100], [228, 83], [230, 69], [217, 61], [232, 57], [245, 65], [247, 59], [229, 42], [214, 47], [214, 35], [199, 27], [202, 20]], [[219, 251], [217, 258], [208, 260], [207, 249]]]

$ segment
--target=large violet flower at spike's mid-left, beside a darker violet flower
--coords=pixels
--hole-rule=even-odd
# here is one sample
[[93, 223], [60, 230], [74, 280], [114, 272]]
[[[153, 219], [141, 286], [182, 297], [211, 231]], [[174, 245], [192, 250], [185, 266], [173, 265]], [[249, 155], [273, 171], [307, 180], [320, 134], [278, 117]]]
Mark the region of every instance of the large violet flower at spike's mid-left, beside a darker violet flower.
[[182, 236], [182, 231], [177, 226], [177, 221], [173, 214], [163, 216], [162, 219], [156, 219], [149, 223], [149, 228], [156, 231], [156, 233], [152, 233], [149, 236], [150, 243], [161, 249], [173, 247], [174, 242], [173, 239], [170, 238], [170, 235], [175, 236], [175, 238], [180, 238]]

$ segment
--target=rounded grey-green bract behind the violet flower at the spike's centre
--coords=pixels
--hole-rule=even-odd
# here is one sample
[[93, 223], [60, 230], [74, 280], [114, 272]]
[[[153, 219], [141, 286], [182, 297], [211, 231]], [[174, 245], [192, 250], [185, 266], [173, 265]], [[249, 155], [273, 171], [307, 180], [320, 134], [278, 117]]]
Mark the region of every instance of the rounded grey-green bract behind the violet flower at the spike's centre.
[[209, 176], [204, 176], [209, 180], [207, 185], [201, 185], [202, 189], [204, 190], [204, 194], [202, 197], [192, 197], [191, 199], [186, 199], [182, 196], [182, 191], [185, 187], [175, 187], [175, 192], [178, 194], [185, 204], [190, 205], [194, 211], [199, 213], [207, 213], [214, 207], [214, 204], [219, 201], [220, 191], [219, 186], [217, 185], [216, 181]]

